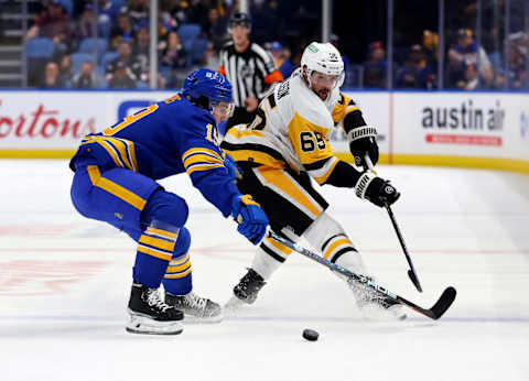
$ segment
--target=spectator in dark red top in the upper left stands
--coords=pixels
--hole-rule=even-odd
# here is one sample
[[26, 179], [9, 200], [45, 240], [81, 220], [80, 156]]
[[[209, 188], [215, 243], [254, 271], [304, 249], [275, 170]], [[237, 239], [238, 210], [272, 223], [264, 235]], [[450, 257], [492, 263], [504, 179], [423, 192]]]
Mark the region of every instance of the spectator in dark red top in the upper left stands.
[[71, 21], [58, 0], [46, 1], [46, 8], [35, 19], [25, 40], [36, 36], [53, 40], [60, 51], [65, 51], [71, 45]]

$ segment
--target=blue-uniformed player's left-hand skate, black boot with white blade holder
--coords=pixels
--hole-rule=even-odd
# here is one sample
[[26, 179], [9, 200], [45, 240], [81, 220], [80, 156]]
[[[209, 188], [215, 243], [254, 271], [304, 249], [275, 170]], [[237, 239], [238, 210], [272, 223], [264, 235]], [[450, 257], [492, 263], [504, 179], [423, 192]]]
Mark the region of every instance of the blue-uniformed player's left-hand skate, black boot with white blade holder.
[[184, 329], [184, 313], [166, 305], [158, 289], [134, 282], [129, 300], [127, 331], [148, 335], [179, 335]]

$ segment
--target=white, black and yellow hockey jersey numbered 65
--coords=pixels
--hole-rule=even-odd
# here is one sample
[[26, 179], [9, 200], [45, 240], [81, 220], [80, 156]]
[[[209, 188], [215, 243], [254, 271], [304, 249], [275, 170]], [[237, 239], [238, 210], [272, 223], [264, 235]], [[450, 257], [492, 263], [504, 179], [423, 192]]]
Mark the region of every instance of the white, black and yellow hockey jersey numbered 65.
[[323, 184], [338, 163], [328, 142], [331, 129], [356, 110], [337, 88], [322, 101], [296, 72], [268, 92], [250, 124], [228, 131], [222, 148], [237, 162], [288, 165]]

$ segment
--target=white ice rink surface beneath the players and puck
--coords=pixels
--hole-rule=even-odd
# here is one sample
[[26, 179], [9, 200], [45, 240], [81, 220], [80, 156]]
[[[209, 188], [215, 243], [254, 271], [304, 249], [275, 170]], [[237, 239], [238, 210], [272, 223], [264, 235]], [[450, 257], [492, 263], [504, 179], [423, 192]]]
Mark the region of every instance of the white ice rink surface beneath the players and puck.
[[[384, 209], [321, 188], [368, 268], [439, 322], [366, 323], [328, 270], [292, 254], [255, 305], [175, 337], [125, 331], [134, 242], [77, 215], [65, 161], [0, 161], [0, 380], [529, 380], [529, 177], [380, 166], [402, 192], [393, 211], [424, 289]], [[226, 302], [253, 248], [191, 187], [195, 291]], [[302, 338], [304, 328], [320, 339]]]

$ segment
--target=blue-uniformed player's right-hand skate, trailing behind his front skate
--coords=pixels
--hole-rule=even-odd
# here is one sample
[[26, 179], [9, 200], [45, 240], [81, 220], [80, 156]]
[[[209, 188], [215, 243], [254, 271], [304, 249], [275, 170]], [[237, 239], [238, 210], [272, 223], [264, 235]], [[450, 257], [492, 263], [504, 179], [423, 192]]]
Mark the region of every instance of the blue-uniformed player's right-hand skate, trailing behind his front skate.
[[187, 295], [173, 295], [165, 292], [165, 303], [182, 311], [186, 320], [218, 323], [223, 319], [223, 308], [217, 303], [201, 297], [194, 292]]

